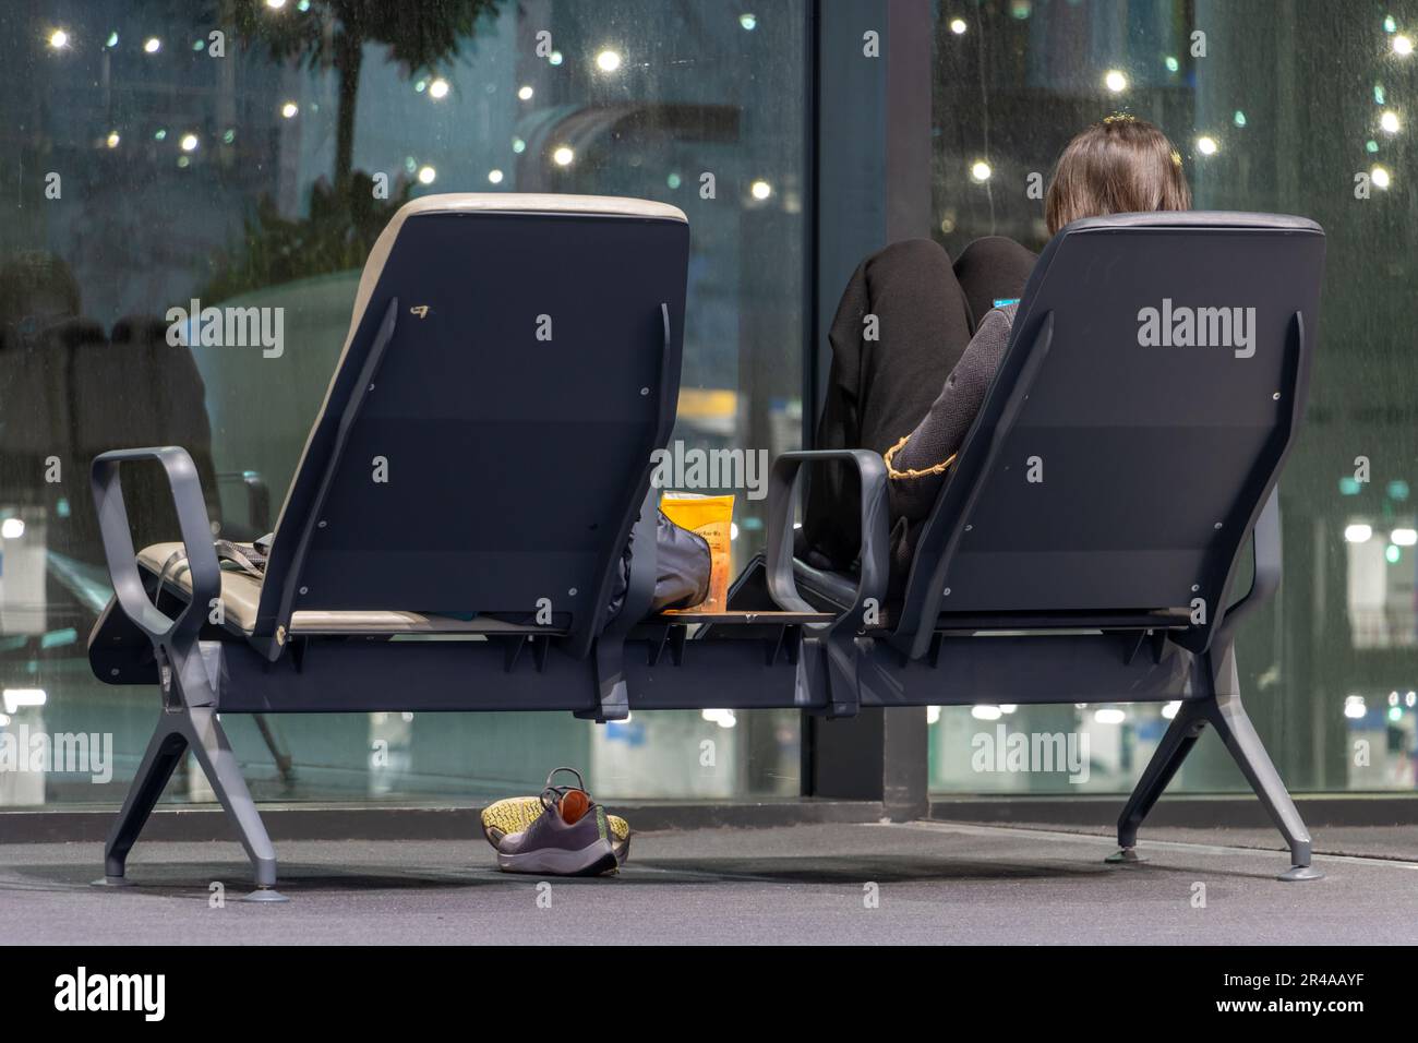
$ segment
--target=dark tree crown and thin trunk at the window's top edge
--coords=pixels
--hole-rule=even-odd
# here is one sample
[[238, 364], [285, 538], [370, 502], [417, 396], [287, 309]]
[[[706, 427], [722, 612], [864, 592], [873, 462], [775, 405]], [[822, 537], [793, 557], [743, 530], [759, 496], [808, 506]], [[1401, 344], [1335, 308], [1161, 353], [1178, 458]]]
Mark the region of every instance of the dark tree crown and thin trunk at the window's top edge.
[[354, 165], [354, 102], [364, 44], [386, 44], [389, 57], [408, 75], [434, 72], [472, 40], [478, 20], [495, 14], [502, 0], [312, 0], [272, 11], [265, 0], [227, 0], [237, 34], [259, 44], [277, 61], [294, 58], [306, 68], [332, 65], [339, 77], [335, 139], [335, 189]]

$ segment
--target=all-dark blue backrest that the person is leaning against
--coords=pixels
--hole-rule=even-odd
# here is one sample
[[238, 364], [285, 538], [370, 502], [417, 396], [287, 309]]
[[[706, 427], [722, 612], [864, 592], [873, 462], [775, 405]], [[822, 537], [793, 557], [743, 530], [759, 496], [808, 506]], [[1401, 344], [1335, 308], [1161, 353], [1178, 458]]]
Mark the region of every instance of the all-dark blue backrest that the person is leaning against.
[[1059, 231], [919, 539], [898, 643], [1003, 613], [1217, 620], [1299, 426], [1323, 265], [1299, 217]]

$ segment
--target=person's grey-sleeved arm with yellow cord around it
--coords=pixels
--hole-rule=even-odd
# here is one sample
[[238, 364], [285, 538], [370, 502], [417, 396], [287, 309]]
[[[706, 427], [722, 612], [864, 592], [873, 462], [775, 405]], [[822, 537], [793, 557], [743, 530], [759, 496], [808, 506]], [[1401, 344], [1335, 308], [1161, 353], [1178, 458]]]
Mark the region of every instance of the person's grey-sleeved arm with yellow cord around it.
[[986, 314], [940, 396], [916, 430], [883, 454], [892, 518], [923, 519], [936, 504], [946, 473], [974, 423], [994, 370], [1010, 345], [1018, 305]]

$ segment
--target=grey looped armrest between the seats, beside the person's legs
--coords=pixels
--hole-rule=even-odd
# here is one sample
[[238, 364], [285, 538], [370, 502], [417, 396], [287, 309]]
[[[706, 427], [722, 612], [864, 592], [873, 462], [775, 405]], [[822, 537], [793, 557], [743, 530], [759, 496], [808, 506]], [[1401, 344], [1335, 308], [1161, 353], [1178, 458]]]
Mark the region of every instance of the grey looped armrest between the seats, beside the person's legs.
[[[852, 605], [842, 619], [862, 624], [869, 607], [868, 600], [881, 607], [886, 596], [889, 575], [889, 514], [886, 501], [886, 461], [881, 454], [865, 448], [820, 448], [784, 453], [773, 461], [769, 473], [769, 548], [767, 573], [769, 593], [778, 607], [787, 612], [813, 612], [797, 589], [793, 572], [793, 505], [795, 502], [797, 478], [803, 464], [847, 461], [855, 464], [861, 475], [861, 531], [862, 545], [858, 551], [861, 562], [856, 590]], [[837, 626], [834, 623], [832, 626]]]

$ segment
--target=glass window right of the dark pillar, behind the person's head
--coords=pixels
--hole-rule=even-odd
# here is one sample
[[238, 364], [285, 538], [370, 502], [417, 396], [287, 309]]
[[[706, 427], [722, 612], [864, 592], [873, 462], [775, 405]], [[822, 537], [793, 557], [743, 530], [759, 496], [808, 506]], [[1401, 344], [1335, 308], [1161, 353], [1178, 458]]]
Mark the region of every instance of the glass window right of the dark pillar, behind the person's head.
[[[1117, 111], [1167, 132], [1197, 207], [1302, 214], [1329, 231], [1309, 416], [1280, 481], [1285, 582], [1238, 650], [1248, 711], [1296, 790], [1418, 783], [1415, 40], [1411, 0], [983, 0], [940, 4], [936, 20], [933, 206], [947, 250], [991, 234], [1039, 250], [1055, 158]], [[932, 710], [932, 785], [1130, 789], [1171, 710]], [[995, 771], [984, 751], [1017, 732], [1086, 742], [1086, 780]], [[1177, 786], [1245, 783], [1205, 739]]]

